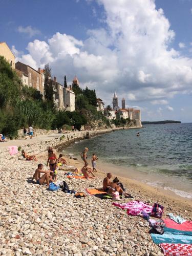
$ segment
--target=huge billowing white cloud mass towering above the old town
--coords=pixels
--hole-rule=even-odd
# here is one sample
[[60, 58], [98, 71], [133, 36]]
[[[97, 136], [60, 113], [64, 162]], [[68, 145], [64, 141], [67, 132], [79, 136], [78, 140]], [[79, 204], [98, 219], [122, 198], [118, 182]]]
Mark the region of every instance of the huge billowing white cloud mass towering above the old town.
[[20, 60], [35, 67], [49, 62], [60, 82], [77, 75], [106, 104], [115, 89], [137, 105], [166, 105], [176, 94], [191, 93], [192, 59], [171, 48], [175, 33], [154, 0], [97, 1], [105, 9], [104, 27], [89, 30], [84, 41], [59, 32], [31, 41]]

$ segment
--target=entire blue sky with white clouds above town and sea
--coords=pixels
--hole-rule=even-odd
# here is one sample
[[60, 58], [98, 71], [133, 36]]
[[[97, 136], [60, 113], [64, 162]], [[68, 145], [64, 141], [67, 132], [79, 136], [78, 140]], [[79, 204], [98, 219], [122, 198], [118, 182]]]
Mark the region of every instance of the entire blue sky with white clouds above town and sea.
[[143, 121], [192, 122], [192, 0], [0, 0], [0, 41]]

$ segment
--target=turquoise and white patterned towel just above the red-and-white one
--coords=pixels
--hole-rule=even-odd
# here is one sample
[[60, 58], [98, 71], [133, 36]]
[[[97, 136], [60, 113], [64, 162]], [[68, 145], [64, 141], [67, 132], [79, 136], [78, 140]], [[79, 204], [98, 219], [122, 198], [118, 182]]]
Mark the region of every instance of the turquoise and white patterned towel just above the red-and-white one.
[[155, 244], [192, 244], [192, 236], [186, 236], [184, 234], [164, 232], [163, 234], [151, 233], [151, 236]]

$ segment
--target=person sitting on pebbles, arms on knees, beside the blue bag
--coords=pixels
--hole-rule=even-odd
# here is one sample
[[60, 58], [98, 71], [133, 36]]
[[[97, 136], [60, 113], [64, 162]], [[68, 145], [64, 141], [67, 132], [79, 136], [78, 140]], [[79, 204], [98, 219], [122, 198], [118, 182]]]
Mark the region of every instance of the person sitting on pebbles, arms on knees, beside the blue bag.
[[[37, 184], [39, 184], [39, 185], [46, 183], [46, 185], [49, 186], [49, 182], [50, 181], [53, 182], [52, 177], [50, 175], [53, 172], [51, 170], [42, 170], [43, 167], [44, 166], [41, 163], [38, 164], [32, 180], [35, 179]], [[42, 177], [40, 177], [41, 173], [44, 174]]]

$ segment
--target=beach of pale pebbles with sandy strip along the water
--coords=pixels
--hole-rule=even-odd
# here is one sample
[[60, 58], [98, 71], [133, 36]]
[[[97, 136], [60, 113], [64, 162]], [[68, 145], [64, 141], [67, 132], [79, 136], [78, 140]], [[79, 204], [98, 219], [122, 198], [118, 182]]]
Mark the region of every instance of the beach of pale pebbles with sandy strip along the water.
[[[86, 192], [91, 186], [102, 187], [103, 172], [86, 180], [67, 179], [65, 171], [58, 171], [58, 180], [84, 192], [85, 198], [74, 198], [62, 190], [49, 191], [46, 185], [31, 182], [37, 164], [46, 163], [46, 154], [38, 155], [37, 162], [5, 159], [0, 164], [0, 255], [163, 255], [151, 239], [147, 221], [128, 216], [110, 199], [101, 200]], [[69, 165], [83, 166], [80, 157], [77, 161], [64, 157]], [[192, 220], [190, 201], [118, 177], [134, 197], [122, 199], [122, 203], [159, 202], [164, 206], [164, 218], [173, 212]]]

